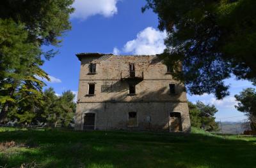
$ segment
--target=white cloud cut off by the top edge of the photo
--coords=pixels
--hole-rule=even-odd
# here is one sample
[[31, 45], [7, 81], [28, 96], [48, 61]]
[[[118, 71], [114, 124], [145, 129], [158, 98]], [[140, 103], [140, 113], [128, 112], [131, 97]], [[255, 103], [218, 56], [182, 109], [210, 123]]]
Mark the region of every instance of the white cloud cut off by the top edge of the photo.
[[112, 17], [117, 13], [116, 3], [119, 0], [75, 0], [71, 18], [85, 20], [93, 15]]

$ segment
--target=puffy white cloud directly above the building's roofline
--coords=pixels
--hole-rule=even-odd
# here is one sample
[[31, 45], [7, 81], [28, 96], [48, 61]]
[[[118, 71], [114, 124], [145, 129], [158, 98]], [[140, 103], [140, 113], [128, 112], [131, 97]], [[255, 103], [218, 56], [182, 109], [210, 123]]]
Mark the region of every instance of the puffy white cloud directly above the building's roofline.
[[[124, 45], [124, 53], [132, 53], [135, 55], [154, 55], [163, 53], [164, 39], [166, 32], [157, 31], [153, 27], [147, 27], [137, 34], [136, 39], [127, 41]], [[115, 48], [114, 48], [115, 49]]]

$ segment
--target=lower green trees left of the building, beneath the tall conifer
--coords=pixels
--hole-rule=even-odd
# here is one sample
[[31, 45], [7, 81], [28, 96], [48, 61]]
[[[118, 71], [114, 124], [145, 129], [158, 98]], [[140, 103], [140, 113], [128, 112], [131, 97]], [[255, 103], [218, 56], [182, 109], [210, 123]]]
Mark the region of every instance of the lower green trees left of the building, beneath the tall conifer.
[[40, 95], [40, 99], [28, 99], [26, 95], [21, 95], [22, 100], [8, 113], [10, 120], [18, 119], [20, 124], [32, 123], [35, 125], [47, 123], [56, 127], [58, 123], [67, 127], [73, 122], [76, 111], [75, 95], [71, 91], [63, 92], [57, 96], [53, 88], [45, 89]]

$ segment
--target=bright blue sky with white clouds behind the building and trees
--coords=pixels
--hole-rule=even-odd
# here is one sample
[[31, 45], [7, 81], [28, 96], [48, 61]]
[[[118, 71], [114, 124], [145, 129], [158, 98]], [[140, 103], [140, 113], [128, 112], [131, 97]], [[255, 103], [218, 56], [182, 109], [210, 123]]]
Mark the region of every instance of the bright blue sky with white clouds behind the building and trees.
[[[145, 4], [145, 0], [76, 0], [73, 4], [76, 10], [70, 17], [72, 30], [63, 36], [61, 46], [54, 48], [58, 54], [42, 67], [51, 78], [45, 81], [47, 87], [53, 87], [57, 95], [66, 90], [77, 94], [80, 62], [76, 53], [153, 55], [163, 52], [166, 32], [157, 29], [156, 13], [152, 10], [141, 13]], [[51, 48], [45, 46], [44, 50]], [[246, 116], [234, 108], [237, 104], [234, 95], [253, 87], [252, 84], [234, 77], [225, 82], [230, 85], [230, 95], [223, 100], [208, 94], [188, 94], [188, 100], [214, 104], [218, 109], [216, 121], [245, 120]]]

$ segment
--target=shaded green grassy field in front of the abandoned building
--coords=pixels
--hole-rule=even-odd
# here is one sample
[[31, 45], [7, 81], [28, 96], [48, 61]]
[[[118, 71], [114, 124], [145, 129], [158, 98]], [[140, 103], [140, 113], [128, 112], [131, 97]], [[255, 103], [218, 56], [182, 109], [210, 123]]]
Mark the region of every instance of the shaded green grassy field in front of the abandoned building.
[[0, 128], [3, 167], [256, 167], [256, 138]]

